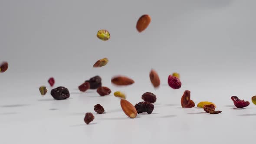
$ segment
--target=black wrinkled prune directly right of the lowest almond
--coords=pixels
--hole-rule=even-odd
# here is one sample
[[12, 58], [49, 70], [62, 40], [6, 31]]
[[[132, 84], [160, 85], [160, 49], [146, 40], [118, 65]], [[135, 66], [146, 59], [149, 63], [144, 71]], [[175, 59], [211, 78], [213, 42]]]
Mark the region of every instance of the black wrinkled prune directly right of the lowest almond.
[[135, 105], [135, 108], [136, 108], [138, 114], [143, 113], [143, 112], [151, 114], [152, 111], [154, 110], [154, 105], [147, 101], [141, 101]]

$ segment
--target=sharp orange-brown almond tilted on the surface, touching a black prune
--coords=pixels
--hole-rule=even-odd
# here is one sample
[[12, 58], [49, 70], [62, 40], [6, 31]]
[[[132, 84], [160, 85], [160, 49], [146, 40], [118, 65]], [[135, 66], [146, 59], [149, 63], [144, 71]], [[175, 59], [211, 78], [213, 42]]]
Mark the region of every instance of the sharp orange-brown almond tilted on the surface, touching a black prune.
[[136, 108], [129, 101], [121, 99], [120, 104], [122, 110], [125, 112], [125, 115], [130, 118], [135, 118], [137, 116]]

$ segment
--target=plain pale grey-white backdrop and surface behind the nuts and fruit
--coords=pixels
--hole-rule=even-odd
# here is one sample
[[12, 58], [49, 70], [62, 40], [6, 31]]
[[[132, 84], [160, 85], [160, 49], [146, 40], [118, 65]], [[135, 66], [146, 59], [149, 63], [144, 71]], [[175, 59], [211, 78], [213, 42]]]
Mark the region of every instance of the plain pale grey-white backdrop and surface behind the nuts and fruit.
[[[1, 143], [14, 144], [241, 144], [254, 141], [256, 106], [254, 0], [0, 0], [0, 61], [9, 69], [0, 73]], [[138, 33], [138, 18], [151, 16]], [[111, 39], [96, 33], [107, 29]], [[92, 65], [107, 57], [108, 65]], [[154, 89], [151, 68], [161, 78]], [[181, 74], [182, 87], [167, 85], [172, 72]], [[135, 80], [127, 87], [111, 84], [114, 75]], [[95, 90], [80, 93], [86, 79], [100, 75], [112, 94]], [[49, 77], [69, 89], [70, 98], [50, 95]], [[42, 97], [39, 86], [46, 85]], [[121, 90], [132, 104], [144, 92], [157, 95], [151, 115], [127, 118], [113, 92]], [[219, 115], [200, 108], [181, 108], [184, 90], [196, 105], [212, 101]], [[233, 109], [230, 97], [250, 101]], [[101, 104], [106, 113], [97, 115]], [[86, 125], [86, 112], [95, 120]]]

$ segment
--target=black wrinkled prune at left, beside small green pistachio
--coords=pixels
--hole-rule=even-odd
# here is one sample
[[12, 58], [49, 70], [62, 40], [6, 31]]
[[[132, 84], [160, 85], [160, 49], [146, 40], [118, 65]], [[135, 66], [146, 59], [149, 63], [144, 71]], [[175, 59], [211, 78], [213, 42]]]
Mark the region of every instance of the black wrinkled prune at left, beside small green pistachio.
[[51, 95], [56, 100], [67, 99], [70, 96], [68, 88], [65, 88], [63, 86], [52, 89]]

